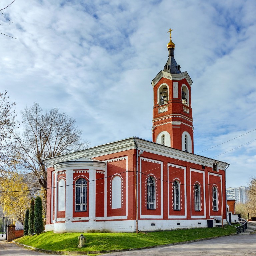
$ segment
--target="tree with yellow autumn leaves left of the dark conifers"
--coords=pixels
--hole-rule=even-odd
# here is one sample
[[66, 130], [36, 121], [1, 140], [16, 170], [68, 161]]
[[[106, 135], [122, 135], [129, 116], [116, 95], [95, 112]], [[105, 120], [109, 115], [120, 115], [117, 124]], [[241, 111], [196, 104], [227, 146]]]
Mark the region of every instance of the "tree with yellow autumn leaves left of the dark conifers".
[[[26, 176], [12, 173], [9, 177], [0, 177], [0, 203], [4, 214], [22, 224], [26, 209], [29, 208], [31, 193], [28, 190]], [[16, 192], [20, 191], [20, 192]]]

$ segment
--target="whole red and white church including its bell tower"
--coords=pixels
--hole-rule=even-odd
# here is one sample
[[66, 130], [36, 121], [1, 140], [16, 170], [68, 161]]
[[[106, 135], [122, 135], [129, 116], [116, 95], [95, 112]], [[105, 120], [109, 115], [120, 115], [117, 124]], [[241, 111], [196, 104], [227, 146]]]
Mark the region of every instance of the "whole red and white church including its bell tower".
[[152, 141], [131, 137], [45, 159], [46, 231], [134, 232], [226, 220], [228, 164], [194, 154], [192, 80], [174, 59], [153, 87]]

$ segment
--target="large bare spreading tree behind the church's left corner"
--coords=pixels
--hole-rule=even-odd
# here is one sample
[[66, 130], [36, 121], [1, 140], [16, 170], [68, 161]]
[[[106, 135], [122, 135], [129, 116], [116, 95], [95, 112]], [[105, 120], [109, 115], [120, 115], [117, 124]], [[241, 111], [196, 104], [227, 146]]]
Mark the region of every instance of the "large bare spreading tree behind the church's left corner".
[[[43, 113], [37, 102], [22, 112], [23, 132], [16, 134], [13, 151], [18, 154], [20, 168], [31, 173], [39, 186], [47, 188], [47, 170], [43, 159], [84, 149], [88, 141], [81, 139], [75, 120], [53, 108]], [[46, 190], [45, 190], [46, 200]]]

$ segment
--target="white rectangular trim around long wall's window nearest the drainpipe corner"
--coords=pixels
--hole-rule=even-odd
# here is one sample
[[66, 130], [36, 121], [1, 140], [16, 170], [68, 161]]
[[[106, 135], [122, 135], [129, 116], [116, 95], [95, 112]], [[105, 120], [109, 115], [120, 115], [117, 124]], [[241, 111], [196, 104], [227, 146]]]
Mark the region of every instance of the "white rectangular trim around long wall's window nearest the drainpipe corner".
[[[161, 172], [161, 215], [142, 215], [142, 205], [141, 205], [141, 190], [142, 190], [142, 185], [141, 185], [141, 173], [142, 173], [142, 161], [146, 161], [146, 162], [151, 162], [151, 163], [155, 163], [155, 164], [160, 164], [160, 172]], [[143, 186], [144, 187], [144, 186]], [[156, 195], [157, 195], [157, 191], [156, 191]], [[140, 216], [141, 219], [162, 219], [163, 218], [163, 162], [162, 161], [158, 161], [158, 160], [153, 160], [150, 158], [145, 158], [145, 157], [140, 157]]]

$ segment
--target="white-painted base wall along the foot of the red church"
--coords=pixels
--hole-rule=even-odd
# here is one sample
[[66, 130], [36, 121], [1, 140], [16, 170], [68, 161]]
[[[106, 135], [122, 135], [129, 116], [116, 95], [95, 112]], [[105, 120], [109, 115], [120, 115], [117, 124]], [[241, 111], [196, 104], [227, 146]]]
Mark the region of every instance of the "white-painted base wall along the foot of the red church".
[[[213, 221], [213, 224], [215, 224], [215, 221]], [[207, 227], [207, 220], [203, 219], [203, 220], [139, 220], [138, 221], [139, 231], [158, 231], [158, 230], [200, 228], [200, 227]], [[87, 232], [91, 230], [100, 230], [100, 231], [108, 230], [111, 232], [134, 232], [136, 231], [136, 221], [121, 220], [121, 221], [97, 221], [97, 222], [87, 221], [87, 222], [54, 223], [54, 224], [46, 225], [45, 230], [54, 231], [54, 233]]]

